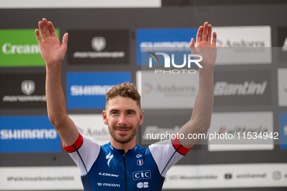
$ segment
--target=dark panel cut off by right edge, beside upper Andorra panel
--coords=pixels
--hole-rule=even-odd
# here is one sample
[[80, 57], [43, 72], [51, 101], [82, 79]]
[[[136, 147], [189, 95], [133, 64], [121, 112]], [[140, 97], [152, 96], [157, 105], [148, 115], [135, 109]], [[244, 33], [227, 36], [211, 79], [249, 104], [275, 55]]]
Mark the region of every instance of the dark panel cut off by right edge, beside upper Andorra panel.
[[281, 48], [278, 51], [279, 61], [287, 61], [287, 27], [278, 27], [277, 46]]

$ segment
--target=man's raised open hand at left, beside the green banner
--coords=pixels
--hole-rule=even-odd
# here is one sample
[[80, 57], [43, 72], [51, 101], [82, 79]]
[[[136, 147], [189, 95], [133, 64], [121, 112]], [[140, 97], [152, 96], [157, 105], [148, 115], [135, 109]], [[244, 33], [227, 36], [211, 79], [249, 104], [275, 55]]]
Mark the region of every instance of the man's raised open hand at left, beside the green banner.
[[68, 33], [66, 33], [63, 36], [63, 41], [61, 45], [56, 35], [55, 28], [50, 21], [47, 22], [47, 19], [43, 18], [43, 20], [39, 21], [38, 24], [39, 24], [40, 33], [39, 33], [39, 30], [36, 29], [35, 34], [36, 34], [37, 41], [39, 43], [39, 48], [40, 48], [42, 57], [46, 62], [46, 66], [49, 67], [53, 64], [61, 64], [62, 60], [65, 57], [65, 53], [67, 51]]

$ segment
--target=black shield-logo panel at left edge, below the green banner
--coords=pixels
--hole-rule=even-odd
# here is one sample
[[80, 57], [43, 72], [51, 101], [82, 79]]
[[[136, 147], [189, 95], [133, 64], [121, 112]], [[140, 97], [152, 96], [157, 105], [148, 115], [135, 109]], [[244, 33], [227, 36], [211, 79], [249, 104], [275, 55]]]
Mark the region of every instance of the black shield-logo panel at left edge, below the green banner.
[[0, 74], [0, 108], [46, 108], [46, 73]]

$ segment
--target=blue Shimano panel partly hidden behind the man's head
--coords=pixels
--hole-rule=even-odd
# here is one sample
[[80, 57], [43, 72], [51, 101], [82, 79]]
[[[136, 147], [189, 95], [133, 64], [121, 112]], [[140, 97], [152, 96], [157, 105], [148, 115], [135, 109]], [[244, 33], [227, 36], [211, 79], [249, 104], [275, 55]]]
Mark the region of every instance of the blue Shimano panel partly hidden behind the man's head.
[[68, 72], [68, 109], [105, 108], [105, 94], [113, 86], [131, 82], [130, 72]]

